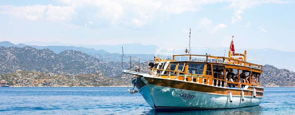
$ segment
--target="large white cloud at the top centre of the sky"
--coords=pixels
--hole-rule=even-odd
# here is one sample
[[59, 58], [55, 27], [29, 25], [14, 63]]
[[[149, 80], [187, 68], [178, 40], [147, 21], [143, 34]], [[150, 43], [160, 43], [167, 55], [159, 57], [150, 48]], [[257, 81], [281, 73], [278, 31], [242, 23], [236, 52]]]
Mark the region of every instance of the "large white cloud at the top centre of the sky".
[[143, 26], [153, 21], [169, 18], [171, 14], [181, 14], [186, 11], [197, 11], [203, 4], [214, 4], [217, 1], [155, 1], [155, 0], [61, 0], [63, 3], [74, 6], [76, 9], [97, 7], [96, 16], [91, 19], [107, 19], [112, 25], [118, 23]]

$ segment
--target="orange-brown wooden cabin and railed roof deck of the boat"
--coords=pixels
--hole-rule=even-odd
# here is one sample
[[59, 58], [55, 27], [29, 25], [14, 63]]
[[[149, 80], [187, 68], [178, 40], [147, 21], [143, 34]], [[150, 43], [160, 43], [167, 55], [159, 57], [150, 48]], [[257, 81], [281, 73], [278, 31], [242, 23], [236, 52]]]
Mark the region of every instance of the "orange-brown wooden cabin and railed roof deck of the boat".
[[[152, 64], [150, 63], [149, 65], [151, 70], [150, 75], [154, 77], [199, 82], [214, 86], [217, 86], [219, 81], [223, 81], [225, 84], [239, 84], [239, 88], [241, 85], [260, 86], [259, 77], [257, 80], [256, 78], [254, 80], [252, 74], [258, 74], [260, 76], [262, 73], [262, 65], [257, 63], [260, 63], [262, 59], [249, 56], [246, 51], [244, 51], [243, 54], [235, 52], [235, 54], [232, 55], [230, 51], [226, 49], [190, 47], [187, 53], [176, 54], [181, 53], [178, 52], [179, 50], [176, 50], [179, 48], [186, 49], [186, 47], [175, 47], [168, 50], [167, 53], [164, 53], [162, 49], [155, 49], [155, 60], [150, 61]], [[172, 51], [173, 53], [169, 53]], [[182, 51], [185, 52], [185, 50]], [[228, 55], [228, 57], [225, 57], [225, 55]], [[134, 63], [134, 61], [136, 60], [130, 57], [130, 71], [132, 68], [131, 63], [137, 64], [137, 62]], [[138, 60], [137, 67], [140, 68], [140, 59]], [[241, 80], [241, 78], [243, 78], [245, 81], [229, 82], [227, 78], [230, 69], [234, 69], [237, 73], [235, 74], [237, 79]], [[242, 71], [247, 72], [248, 75], [242, 73]], [[222, 78], [217, 77], [219, 74], [222, 75]], [[250, 77], [244, 78], [244, 76]], [[234, 78], [235, 77], [232, 76], [233, 80]]]

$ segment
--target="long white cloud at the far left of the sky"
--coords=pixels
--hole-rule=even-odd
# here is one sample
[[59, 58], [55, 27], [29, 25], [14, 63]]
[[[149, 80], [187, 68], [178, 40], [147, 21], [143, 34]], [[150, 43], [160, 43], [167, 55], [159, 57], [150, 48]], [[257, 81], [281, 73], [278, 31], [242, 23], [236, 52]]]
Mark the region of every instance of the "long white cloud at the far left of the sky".
[[32, 6], [0, 6], [0, 14], [6, 14], [28, 20], [64, 20], [71, 19], [75, 14], [73, 6], [53, 6], [51, 4]]

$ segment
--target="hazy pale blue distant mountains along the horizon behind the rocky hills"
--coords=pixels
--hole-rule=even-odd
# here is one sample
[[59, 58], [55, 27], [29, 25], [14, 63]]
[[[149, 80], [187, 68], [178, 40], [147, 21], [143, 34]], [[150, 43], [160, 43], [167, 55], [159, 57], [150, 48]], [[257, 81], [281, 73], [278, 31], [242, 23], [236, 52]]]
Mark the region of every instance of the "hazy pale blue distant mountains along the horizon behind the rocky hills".
[[[25, 42], [28, 44], [41, 44], [41, 45], [52, 45], [58, 44], [62, 45], [61, 42]], [[71, 44], [65, 44], [71, 45]], [[122, 56], [122, 46], [124, 50], [124, 55], [138, 57], [144, 60], [152, 60], [154, 58], [154, 50], [157, 49], [158, 46], [155, 45], [142, 45], [142, 44], [121, 44], [121, 45], [76, 45], [76, 46], [37, 46], [37, 45], [26, 45], [26, 44], [12, 44], [9, 41], [1, 41], [0, 46], [5, 47], [25, 47], [30, 46], [37, 49], [50, 49], [56, 54], [59, 54], [65, 50], [76, 50], [83, 51], [85, 54], [94, 56], [96, 58], [102, 59], [104, 61], [121, 61]], [[237, 47], [237, 46], [236, 46]], [[218, 48], [218, 49], [228, 49], [228, 48]], [[235, 49], [236, 52], [244, 53], [244, 50], [247, 50], [247, 55], [254, 56], [263, 60], [247, 60], [254, 61], [255, 64], [260, 65], [273, 65], [279, 69], [289, 69], [291, 71], [295, 71], [295, 52], [287, 52], [287, 51], [279, 51], [274, 49]], [[198, 54], [212, 54], [214, 51], [208, 50], [197, 50]], [[112, 52], [112, 53], [109, 53]], [[167, 52], [163, 50], [163, 52]], [[192, 51], [193, 52], [193, 51]], [[172, 52], [173, 53], [173, 52]], [[176, 54], [184, 54], [182, 50], [174, 51]], [[224, 52], [223, 52], [224, 53]], [[223, 55], [222, 55], [223, 56]], [[249, 58], [250, 58], [249, 56]]]

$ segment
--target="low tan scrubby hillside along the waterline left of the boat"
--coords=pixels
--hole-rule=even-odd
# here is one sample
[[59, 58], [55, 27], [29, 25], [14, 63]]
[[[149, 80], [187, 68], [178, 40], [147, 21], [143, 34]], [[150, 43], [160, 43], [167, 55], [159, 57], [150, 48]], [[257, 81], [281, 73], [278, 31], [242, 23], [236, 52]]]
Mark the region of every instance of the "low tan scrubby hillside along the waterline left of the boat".
[[10, 86], [126, 86], [121, 81], [106, 77], [101, 72], [96, 71], [92, 74], [68, 73], [52, 74], [37, 71], [21, 71], [10, 74], [0, 74], [0, 79], [6, 80]]

